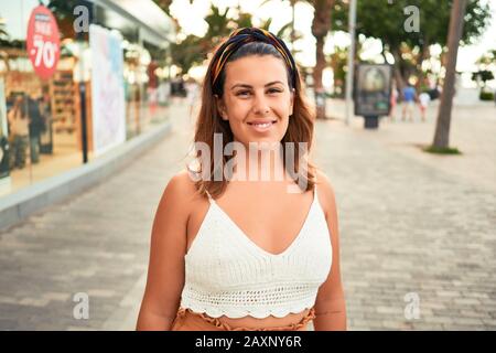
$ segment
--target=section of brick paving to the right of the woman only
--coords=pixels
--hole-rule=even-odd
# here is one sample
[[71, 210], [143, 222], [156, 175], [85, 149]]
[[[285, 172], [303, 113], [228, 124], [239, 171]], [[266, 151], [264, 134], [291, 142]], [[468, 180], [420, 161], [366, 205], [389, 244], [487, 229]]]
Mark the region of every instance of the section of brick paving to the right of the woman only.
[[[358, 118], [319, 127], [317, 160], [339, 207], [351, 329], [496, 329], [490, 109], [454, 114], [453, 146], [464, 152], [456, 157], [416, 146], [431, 141], [434, 109], [428, 122], [384, 120], [377, 131]], [[411, 298], [419, 299], [418, 320], [406, 319]]]

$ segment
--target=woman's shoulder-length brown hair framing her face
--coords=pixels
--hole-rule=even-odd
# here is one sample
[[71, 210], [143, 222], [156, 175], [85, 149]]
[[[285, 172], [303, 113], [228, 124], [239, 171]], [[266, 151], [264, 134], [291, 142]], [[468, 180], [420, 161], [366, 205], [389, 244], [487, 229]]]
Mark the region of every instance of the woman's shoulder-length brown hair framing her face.
[[[259, 29], [242, 29], [237, 30], [228, 39], [225, 39], [217, 47], [214, 49], [212, 58], [208, 63], [207, 72], [202, 83], [202, 106], [196, 119], [194, 142], [205, 143], [209, 148], [209, 151], [214, 151], [214, 133], [222, 133], [223, 151], [227, 143], [234, 141], [229, 121], [223, 120], [217, 110], [215, 95], [222, 98], [224, 93], [224, 83], [226, 79], [226, 73], [224, 68], [225, 66], [219, 65], [219, 57], [225, 56], [225, 53], [223, 52], [225, 52], [226, 50], [226, 44], [228, 44], [227, 41], [229, 39], [233, 39], [234, 35], [237, 35], [240, 31], [245, 34], [250, 34], [252, 33], [252, 31], [257, 31], [258, 38], [261, 33]], [[262, 33], [270, 32], [263, 31]], [[273, 34], [271, 35], [273, 36]], [[282, 42], [279, 39], [277, 40]], [[298, 146], [298, 142], [306, 142], [308, 152], [310, 153], [313, 142], [315, 110], [308, 103], [308, 98], [304, 93], [304, 84], [301, 81], [298, 66], [294, 64], [290, 65], [288, 62], [288, 57], [283, 57], [281, 55], [281, 47], [277, 47], [277, 45], [273, 45], [270, 41], [259, 41], [251, 39], [249, 42], [242, 43], [238, 46], [238, 49], [230, 53], [229, 57], [225, 61], [226, 63], [234, 62], [238, 58], [250, 55], [272, 55], [277, 58], [280, 58], [284, 63], [288, 72], [288, 83], [290, 89], [294, 88], [294, 103], [293, 114], [289, 119], [288, 130], [285, 131], [281, 143], [285, 146], [285, 142], [292, 142]], [[285, 45], [283, 46], [285, 55], [289, 55], [291, 62], [294, 63], [291, 53], [287, 50]], [[220, 72], [216, 72], [218, 69], [220, 69]], [[282, 150], [282, 153], [284, 168], [288, 169], [288, 165], [285, 163], [285, 149]], [[201, 150], [194, 151], [196, 162], [201, 160]], [[223, 153], [222, 158], [222, 165], [226, 165], [226, 163], [233, 158], [233, 156], [224, 156]], [[302, 158], [306, 159], [308, 168], [304, 170], [300, 170], [300, 162]], [[213, 153], [211, 153], [209, 159], [209, 171], [203, 170], [204, 167], [202, 165], [202, 163], [197, 164], [200, 169], [191, 169], [190, 165], [186, 165], [186, 168], [190, 173], [193, 173], [197, 179], [195, 185], [200, 194], [206, 196], [206, 192], [208, 192], [212, 197], [216, 199], [225, 192], [228, 180], [226, 180], [225, 178], [222, 178], [220, 181], [214, 180], [214, 169], [216, 165], [214, 163]], [[309, 160], [309, 156], [300, 156], [300, 150], [295, 148], [294, 173], [296, 173], [298, 179], [302, 178], [304, 181], [305, 189], [302, 190], [302, 192], [313, 190], [315, 185], [315, 169], [316, 167]], [[198, 178], [200, 174], [203, 176]], [[204, 178], [205, 175], [207, 175], [208, 178]]]

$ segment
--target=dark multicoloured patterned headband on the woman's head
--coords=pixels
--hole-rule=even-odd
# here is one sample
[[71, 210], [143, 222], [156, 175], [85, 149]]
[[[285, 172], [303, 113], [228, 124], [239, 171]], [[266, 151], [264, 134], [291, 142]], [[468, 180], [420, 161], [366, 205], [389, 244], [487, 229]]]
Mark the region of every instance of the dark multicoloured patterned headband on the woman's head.
[[216, 51], [213, 58], [214, 71], [212, 75], [212, 87], [214, 87], [217, 83], [217, 78], [229, 56], [240, 46], [249, 42], [263, 42], [273, 45], [279, 53], [281, 53], [288, 67], [290, 67], [292, 84], [293, 87], [295, 87], [296, 66], [294, 64], [293, 56], [285, 46], [284, 42], [269, 31], [256, 28], [244, 28], [234, 31], [229, 35], [228, 40], [224, 42]]

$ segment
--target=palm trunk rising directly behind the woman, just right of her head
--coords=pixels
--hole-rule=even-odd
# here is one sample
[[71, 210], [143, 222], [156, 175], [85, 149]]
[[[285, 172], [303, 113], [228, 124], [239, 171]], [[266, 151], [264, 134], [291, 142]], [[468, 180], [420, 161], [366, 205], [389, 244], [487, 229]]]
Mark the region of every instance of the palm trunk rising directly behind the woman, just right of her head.
[[313, 1], [314, 15], [312, 21], [312, 34], [316, 40], [313, 84], [317, 119], [325, 119], [325, 92], [322, 85], [322, 72], [326, 66], [324, 55], [324, 40], [327, 33], [331, 31], [331, 11], [333, 4], [334, 0]]

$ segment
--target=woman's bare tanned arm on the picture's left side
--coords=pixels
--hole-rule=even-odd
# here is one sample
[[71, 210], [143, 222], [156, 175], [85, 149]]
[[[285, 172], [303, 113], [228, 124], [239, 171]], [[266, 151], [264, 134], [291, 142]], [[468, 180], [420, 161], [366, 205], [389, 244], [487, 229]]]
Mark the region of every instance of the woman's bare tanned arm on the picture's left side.
[[186, 224], [191, 202], [185, 173], [171, 179], [153, 221], [147, 287], [137, 330], [170, 330], [184, 286]]

